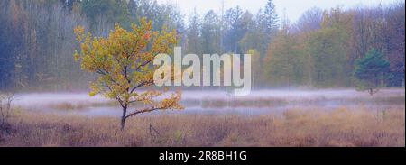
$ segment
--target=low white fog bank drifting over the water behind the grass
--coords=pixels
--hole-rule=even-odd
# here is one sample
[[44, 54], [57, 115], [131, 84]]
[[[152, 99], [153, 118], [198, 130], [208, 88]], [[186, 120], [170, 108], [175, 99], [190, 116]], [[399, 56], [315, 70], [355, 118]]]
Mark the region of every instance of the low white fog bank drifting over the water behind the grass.
[[[355, 89], [323, 90], [257, 90], [249, 96], [231, 96], [220, 90], [188, 90], [182, 92], [184, 110], [156, 111], [146, 115], [266, 115], [290, 109], [383, 110], [404, 107], [404, 89], [383, 89], [374, 96]], [[142, 105], [133, 105], [134, 110]], [[14, 107], [25, 111], [57, 115], [120, 116], [115, 100], [80, 93], [22, 93], [16, 94]], [[130, 110], [131, 110], [130, 108]]]

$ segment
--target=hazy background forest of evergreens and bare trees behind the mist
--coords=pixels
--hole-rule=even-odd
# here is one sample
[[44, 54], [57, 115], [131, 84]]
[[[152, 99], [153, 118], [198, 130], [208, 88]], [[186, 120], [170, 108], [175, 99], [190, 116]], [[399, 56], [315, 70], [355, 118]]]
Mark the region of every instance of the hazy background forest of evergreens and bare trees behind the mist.
[[[241, 7], [187, 17], [153, 0], [6, 0], [0, 2], [0, 89], [87, 88], [93, 75], [73, 60], [73, 30], [106, 36], [141, 18], [153, 30], [176, 29], [185, 53], [250, 53], [253, 87], [355, 87], [355, 61], [377, 50], [390, 63], [385, 87], [404, 87], [404, 2], [329, 10], [291, 23], [269, 0], [257, 13]], [[188, 20], [185, 20], [189, 18]], [[85, 83], [83, 83], [85, 82]]]

